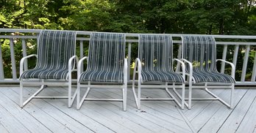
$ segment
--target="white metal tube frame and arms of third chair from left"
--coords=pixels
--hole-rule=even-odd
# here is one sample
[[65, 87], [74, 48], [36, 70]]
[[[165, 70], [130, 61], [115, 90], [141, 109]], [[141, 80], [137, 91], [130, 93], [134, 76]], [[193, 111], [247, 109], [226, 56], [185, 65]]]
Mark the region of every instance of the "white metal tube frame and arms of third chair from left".
[[[173, 58], [173, 61], [177, 61], [179, 64], [182, 65], [182, 77], [183, 77], [183, 80], [185, 81], [185, 64], [180, 61], [179, 59], [177, 58]], [[136, 71], [136, 69], [138, 68], [138, 71]], [[168, 82], [165, 83], [165, 85], [154, 85], [154, 84], [141, 84], [143, 81], [142, 80], [142, 77], [141, 77], [141, 60], [139, 58], [136, 58], [135, 59], [135, 68], [133, 70], [133, 76], [132, 76], [132, 92], [133, 92], [133, 95], [134, 95], [134, 98], [135, 98], [135, 103], [136, 103], [136, 106], [138, 108], [138, 110], [141, 109], [141, 100], [152, 100], [152, 101], [170, 101], [170, 100], [174, 100], [174, 102], [179, 106], [181, 107], [181, 109], [184, 109], [184, 104], [185, 104], [185, 83], [182, 83], [181, 86], [175, 86], [174, 85], [171, 85], [169, 86], [168, 85]], [[138, 73], [138, 94], [136, 94], [136, 91], [135, 91], [135, 75], [136, 73]], [[176, 99], [176, 97], [171, 94], [171, 92], [168, 90], [168, 88], [174, 88], [174, 87], [177, 87], [177, 88], [182, 88], [182, 96], [181, 96], [181, 103]], [[165, 88], [166, 89], [166, 92], [169, 96], [171, 96], [171, 98], [141, 98], [141, 88]]]

